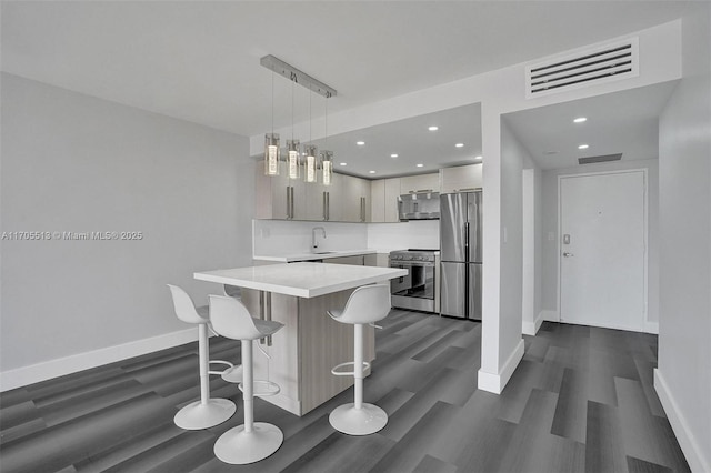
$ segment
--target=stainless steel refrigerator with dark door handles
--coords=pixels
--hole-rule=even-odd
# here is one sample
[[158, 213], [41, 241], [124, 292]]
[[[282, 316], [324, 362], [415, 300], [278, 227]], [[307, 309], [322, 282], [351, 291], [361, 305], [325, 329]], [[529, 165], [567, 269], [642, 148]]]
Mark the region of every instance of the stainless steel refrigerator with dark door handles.
[[440, 312], [481, 320], [481, 191], [440, 195]]

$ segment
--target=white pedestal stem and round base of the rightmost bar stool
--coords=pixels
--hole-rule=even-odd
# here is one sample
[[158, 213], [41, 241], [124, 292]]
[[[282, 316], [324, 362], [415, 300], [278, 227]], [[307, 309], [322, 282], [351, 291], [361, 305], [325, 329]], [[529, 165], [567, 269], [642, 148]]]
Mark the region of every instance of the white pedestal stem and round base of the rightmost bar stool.
[[388, 424], [388, 414], [363, 402], [363, 324], [353, 325], [353, 402], [339, 405], [329, 415], [331, 426], [349, 435], [369, 435]]

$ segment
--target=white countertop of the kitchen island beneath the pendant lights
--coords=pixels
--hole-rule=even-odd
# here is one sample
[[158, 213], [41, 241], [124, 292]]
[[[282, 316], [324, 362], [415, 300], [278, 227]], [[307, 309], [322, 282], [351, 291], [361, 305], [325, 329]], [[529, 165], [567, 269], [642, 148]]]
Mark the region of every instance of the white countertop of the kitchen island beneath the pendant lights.
[[194, 273], [193, 276], [200, 281], [299, 298], [316, 298], [407, 274], [407, 270], [395, 268], [302, 262], [202, 271]]

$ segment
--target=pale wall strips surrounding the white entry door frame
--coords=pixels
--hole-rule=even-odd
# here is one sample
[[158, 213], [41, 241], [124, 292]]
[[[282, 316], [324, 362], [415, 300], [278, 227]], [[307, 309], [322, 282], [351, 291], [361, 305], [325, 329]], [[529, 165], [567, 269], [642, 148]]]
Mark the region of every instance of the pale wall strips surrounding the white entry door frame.
[[658, 160], [617, 161], [543, 171], [542, 179], [542, 305], [547, 320], [558, 320], [558, 177], [645, 169], [648, 177], [648, 301], [645, 330], [657, 333], [659, 321], [659, 169]]

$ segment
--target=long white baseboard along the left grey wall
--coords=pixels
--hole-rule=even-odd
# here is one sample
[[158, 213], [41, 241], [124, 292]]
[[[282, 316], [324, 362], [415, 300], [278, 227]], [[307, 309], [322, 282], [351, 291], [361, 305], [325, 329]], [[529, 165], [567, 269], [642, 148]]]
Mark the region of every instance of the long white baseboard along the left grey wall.
[[0, 392], [13, 390], [51, 380], [52, 378], [77, 373], [91, 368], [101, 366], [133, 356], [140, 356], [159, 350], [182, 345], [198, 340], [198, 330], [194, 328], [150, 339], [137, 340], [120, 345], [76, 355], [50, 360], [42, 363], [8, 370], [0, 373]]

